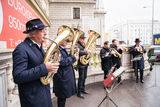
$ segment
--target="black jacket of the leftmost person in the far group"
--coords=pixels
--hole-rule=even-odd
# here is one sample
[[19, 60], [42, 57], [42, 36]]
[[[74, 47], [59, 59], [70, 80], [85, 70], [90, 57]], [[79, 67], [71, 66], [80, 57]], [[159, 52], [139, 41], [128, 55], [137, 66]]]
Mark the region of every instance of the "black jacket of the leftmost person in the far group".
[[110, 54], [109, 48], [103, 47], [100, 50], [100, 57], [101, 57], [102, 70], [109, 71], [113, 66], [113, 63], [112, 63], [113, 56]]

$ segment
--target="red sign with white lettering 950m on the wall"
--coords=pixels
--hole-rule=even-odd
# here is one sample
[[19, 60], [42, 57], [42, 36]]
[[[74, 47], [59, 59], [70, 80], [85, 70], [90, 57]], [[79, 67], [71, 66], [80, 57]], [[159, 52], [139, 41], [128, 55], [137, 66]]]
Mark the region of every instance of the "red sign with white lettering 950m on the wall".
[[0, 48], [13, 49], [22, 42], [25, 23], [35, 17], [25, 0], [0, 0]]

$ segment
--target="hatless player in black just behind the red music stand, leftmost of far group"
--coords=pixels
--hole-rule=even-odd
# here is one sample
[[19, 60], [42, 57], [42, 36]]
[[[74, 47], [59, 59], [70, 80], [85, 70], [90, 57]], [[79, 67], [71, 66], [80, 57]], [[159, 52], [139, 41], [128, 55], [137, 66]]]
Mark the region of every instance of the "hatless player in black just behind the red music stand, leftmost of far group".
[[106, 79], [109, 70], [113, 66], [112, 64], [113, 54], [110, 51], [110, 45], [108, 41], [104, 42], [104, 47], [100, 50], [100, 57], [101, 57], [102, 70], [104, 71], [104, 79]]

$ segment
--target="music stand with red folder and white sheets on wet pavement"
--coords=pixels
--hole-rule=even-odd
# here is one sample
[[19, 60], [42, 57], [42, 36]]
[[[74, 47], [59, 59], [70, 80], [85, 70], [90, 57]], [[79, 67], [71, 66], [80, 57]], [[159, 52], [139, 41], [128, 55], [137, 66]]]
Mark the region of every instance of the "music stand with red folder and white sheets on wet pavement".
[[[111, 93], [113, 91], [113, 89], [115, 89], [116, 87], [118, 87], [120, 85], [120, 82], [118, 84], [116, 84], [117, 82], [115, 81], [117, 79], [118, 76], [120, 76], [123, 72], [125, 71], [125, 69], [123, 67], [120, 67], [119, 69], [117, 69], [114, 73], [110, 73], [110, 75], [104, 80], [104, 87], [105, 87], [105, 91], [106, 91], [106, 96], [102, 99], [102, 101], [100, 102], [100, 104], [98, 105], [98, 107], [101, 106], [101, 104], [105, 101], [105, 99], [109, 99], [116, 107], [118, 107], [118, 105], [113, 101], [113, 99], [109, 96], [109, 93]], [[110, 90], [107, 88], [108, 85], [110, 85], [111, 83], [112, 86], [110, 88]]]

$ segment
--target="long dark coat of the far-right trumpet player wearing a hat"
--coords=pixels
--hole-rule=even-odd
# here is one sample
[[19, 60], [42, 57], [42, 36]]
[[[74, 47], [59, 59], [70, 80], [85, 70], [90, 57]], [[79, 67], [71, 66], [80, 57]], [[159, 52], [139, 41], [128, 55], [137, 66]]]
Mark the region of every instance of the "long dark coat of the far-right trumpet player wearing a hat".
[[[139, 61], [133, 61], [133, 68], [135, 69], [136, 68], [136, 65], [138, 67], [138, 69], [144, 69], [144, 57], [143, 57], [143, 53], [140, 53], [139, 51], [137, 50], [134, 50], [134, 48], [136, 47], [136, 45], [132, 46], [131, 49], [130, 49], [130, 53], [133, 55], [133, 58], [135, 58], [136, 56], [140, 55], [142, 56], [141, 60]], [[146, 50], [144, 49], [143, 46], [142, 47], [142, 50], [144, 51], [144, 53], [146, 53]]]

